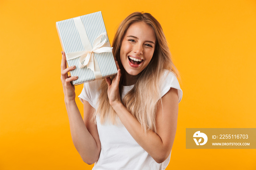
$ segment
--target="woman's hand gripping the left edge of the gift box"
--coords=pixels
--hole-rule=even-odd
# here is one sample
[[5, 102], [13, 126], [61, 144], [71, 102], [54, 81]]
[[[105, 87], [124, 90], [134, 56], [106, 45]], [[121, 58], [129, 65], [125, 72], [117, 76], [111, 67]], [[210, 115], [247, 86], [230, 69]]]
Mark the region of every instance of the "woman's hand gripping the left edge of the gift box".
[[68, 72], [74, 70], [76, 66], [71, 66], [67, 68], [66, 55], [64, 51], [61, 51], [61, 82], [63, 86], [63, 92], [65, 100], [75, 100], [75, 86], [71, 84], [71, 81], [77, 80], [78, 76], [68, 77]]

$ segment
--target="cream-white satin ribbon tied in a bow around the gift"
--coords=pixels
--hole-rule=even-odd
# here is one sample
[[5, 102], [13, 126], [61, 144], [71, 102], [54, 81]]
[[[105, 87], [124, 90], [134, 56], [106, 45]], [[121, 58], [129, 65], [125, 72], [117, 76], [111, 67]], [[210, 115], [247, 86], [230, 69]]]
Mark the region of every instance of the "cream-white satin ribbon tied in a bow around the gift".
[[[81, 42], [84, 46], [85, 51], [77, 51], [73, 53], [67, 53], [66, 59], [74, 59], [77, 57], [80, 57], [79, 59], [79, 68], [83, 68], [84, 66], [87, 66], [88, 69], [91, 69], [94, 72], [95, 78], [101, 78], [102, 75], [99, 70], [98, 63], [96, 61], [95, 56], [93, 53], [111, 53], [113, 47], [110, 47], [110, 43], [106, 43], [107, 40], [107, 33], [103, 32], [100, 34], [93, 43], [93, 48], [91, 47], [90, 41], [88, 39], [86, 30], [83, 26], [82, 20], [79, 17], [73, 18], [75, 26], [78, 30]], [[105, 39], [101, 42], [102, 36], [105, 35]], [[94, 61], [95, 59], [95, 61]], [[99, 72], [99, 73], [98, 73]], [[100, 75], [99, 75], [100, 74]]]

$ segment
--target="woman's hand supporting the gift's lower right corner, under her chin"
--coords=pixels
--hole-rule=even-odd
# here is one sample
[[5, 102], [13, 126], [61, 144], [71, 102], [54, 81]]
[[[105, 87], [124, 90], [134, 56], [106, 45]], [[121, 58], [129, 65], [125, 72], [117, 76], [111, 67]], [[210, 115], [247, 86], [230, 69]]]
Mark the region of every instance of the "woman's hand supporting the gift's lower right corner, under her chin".
[[116, 66], [117, 66], [117, 75], [113, 78], [113, 80], [110, 79], [110, 77], [106, 78], [106, 82], [108, 84], [108, 97], [109, 97], [109, 104], [115, 105], [118, 103], [121, 103], [121, 97], [119, 93], [119, 82], [121, 78], [121, 72], [119, 65], [116, 61]]

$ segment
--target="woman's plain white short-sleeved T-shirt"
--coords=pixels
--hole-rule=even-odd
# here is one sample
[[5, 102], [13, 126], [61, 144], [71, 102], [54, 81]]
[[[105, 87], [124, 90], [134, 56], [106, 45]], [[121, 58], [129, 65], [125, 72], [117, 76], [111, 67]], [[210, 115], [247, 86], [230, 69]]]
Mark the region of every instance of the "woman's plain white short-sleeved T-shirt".
[[[97, 91], [102, 80], [96, 80], [84, 84], [80, 99], [86, 100], [93, 108], [97, 109], [99, 92]], [[125, 96], [132, 86], [124, 86], [121, 98]], [[165, 72], [162, 78], [161, 97], [170, 88], [178, 89], [179, 103], [182, 98], [182, 90], [173, 73]], [[81, 100], [82, 101], [82, 100]], [[119, 118], [118, 118], [119, 119]], [[101, 124], [99, 117], [97, 129], [101, 141], [99, 159], [95, 162], [93, 170], [164, 170], [170, 162], [170, 156], [162, 163], [155, 160], [132, 138], [123, 124]], [[120, 120], [119, 120], [120, 121]]]

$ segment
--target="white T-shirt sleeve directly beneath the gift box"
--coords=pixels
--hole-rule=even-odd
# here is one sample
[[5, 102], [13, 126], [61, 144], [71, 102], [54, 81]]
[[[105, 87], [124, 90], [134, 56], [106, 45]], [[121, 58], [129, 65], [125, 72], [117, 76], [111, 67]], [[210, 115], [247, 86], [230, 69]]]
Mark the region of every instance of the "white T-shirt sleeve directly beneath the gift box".
[[[86, 100], [89, 104], [96, 108], [97, 97], [98, 97], [98, 88], [101, 85], [102, 80], [95, 80], [91, 82], [86, 82], [83, 85], [83, 90], [81, 94], [78, 96], [80, 100]], [[83, 99], [83, 100], [82, 100]]]

